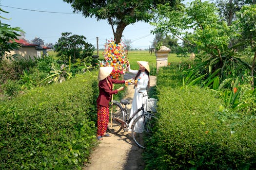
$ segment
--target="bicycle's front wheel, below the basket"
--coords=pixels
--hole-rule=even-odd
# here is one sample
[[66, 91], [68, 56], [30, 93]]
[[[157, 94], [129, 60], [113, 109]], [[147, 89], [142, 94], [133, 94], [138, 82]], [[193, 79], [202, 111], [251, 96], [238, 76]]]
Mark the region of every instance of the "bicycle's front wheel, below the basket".
[[145, 143], [153, 135], [153, 127], [157, 118], [152, 114], [140, 115], [132, 123], [132, 136], [135, 143], [140, 148], [146, 148]]

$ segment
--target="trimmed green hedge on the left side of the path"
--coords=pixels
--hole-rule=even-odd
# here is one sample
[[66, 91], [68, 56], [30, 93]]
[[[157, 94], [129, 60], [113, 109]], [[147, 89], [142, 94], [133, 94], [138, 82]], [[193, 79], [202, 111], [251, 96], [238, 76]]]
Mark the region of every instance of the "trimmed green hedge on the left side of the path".
[[0, 103], [0, 169], [79, 169], [97, 144], [95, 72]]

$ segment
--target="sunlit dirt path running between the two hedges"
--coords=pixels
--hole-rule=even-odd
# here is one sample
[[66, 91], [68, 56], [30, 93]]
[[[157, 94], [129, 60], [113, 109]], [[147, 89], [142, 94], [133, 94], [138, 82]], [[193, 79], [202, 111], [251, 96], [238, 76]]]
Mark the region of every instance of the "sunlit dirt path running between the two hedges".
[[[132, 74], [125, 74], [124, 79], [134, 77]], [[150, 86], [156, 85], [156, 76], [150, 76]], [[125, 99], [132, 103], [134, 89], [128, 86], [128, 94]], [[132, 104], [127, 105], [130, 113]], [[121, 130], [117, 135], [103, 137], [98, 147], [93, 151], [83, 170], [143, 170], [144, 163], [141, 158], [143, 149], [138, 148], [133, 142], [131, 132]]]

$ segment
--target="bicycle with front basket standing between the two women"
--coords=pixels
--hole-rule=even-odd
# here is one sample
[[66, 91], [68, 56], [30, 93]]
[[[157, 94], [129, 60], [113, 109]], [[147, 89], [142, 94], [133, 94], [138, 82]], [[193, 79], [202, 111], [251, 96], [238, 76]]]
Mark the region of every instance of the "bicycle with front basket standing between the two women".
[[[145, 139], [145, 136], [152, 136], [152, 128], [157, 122], [157, 118], [155, 117], [157, 99], [150, 98], [145, 100], [145, 97], [148, 95], [141, 94], [142, 106], [130, 119], [127, 119], [127, 104], [130, 104], [128, 100], [122, 99], [120, 102], [112, 101], [110, 103], [108, 131], [112, 134], [117, 134], [123, 129], [127, 132], [129, 130], [128, 124], [130, 124], [134, 117], [137, 117], [131, 124], [132, 137], [138, 147], [145, 148], [143, 139]], [[142, 114], [138, 116], [140, 111]]]

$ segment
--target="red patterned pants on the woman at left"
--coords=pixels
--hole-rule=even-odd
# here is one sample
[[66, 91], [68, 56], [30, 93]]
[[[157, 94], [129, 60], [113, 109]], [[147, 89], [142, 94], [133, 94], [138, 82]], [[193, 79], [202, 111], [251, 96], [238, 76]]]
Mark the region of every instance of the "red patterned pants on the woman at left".
[[103, 136], [108, 128], [109, 121], [109, 107], [97, 106], [97, 115], [98, 115], [98, 136]]

